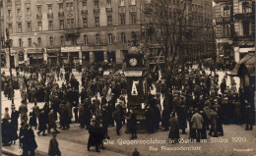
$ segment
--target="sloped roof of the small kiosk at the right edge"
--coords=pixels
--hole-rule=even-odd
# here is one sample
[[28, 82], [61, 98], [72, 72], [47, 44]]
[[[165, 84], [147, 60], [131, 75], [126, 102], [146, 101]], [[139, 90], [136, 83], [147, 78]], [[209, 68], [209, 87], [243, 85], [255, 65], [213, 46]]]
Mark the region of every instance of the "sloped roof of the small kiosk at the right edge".
[[244, 65], [250, 76], [255, 76], [255, 53], [248, 53], [244, 58], [242, 58], [230, 72], [230, 76], [238, 76], [240, 67]]

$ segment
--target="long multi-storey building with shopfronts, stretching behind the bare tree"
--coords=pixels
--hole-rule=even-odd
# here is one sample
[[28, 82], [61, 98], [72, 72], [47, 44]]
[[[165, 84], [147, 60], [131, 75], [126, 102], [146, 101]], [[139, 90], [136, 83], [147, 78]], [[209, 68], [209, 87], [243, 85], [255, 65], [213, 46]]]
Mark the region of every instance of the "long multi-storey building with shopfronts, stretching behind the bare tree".
[[[6, 65], [122, 62], [134, 36], [143, 39], [141, 10], [146, 1], [3, 0], [2, 33], [8, 28], [13, 40], [11, 63], [6, 55]], [[191, 9], [195, 25], [201, 26], [198, 32], [212, 24], [212, 0], [193, 0]], [[211, 34], [193, 33], [197, 43], [189, 46], [191, 51], [212, 47], [205, 39], [211, 40]]]

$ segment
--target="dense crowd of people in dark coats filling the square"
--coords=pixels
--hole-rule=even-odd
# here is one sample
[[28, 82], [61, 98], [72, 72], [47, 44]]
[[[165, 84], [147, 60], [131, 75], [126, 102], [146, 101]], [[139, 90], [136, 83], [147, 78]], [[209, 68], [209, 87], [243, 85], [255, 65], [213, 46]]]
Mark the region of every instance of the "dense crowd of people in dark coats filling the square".
[[[55, 146], [58, 144], [55, 133], [69, 130], [73, 123], [79, 123], [81, 129], [89, 131], [88, 150], [91, 146], [96, 146], [97, 152], [99, 147], [104, 148], [103, 139], [109, 139], [108, 126], [115, 126], [116, 134], [120, 135], [123, 125], [127, 124], [132, 133], [131, 139], [137, 138], [136, 113], [133, 110], [127, 112], [128, 101], [123, 94], [127, 82], [121, 73], [105, 75], [102, 69], [91, 66], [83, 69], [80, 83], [68, 66], [63, 73], [58, 68], [52, 70], [41, 65], [32, 66], [29, 70], [18, 69], [16, 78], [22, 104], [18, 110], [12, 108], [11, 116], [8, 108], [5, 110], [2, 121], [4, 145], [19, 139], [24, 154], [28, 155], [30, 151], [33, 155], [37, 147], [33, 130], [37, 130], [38, 135], [54, 133], [51, 144]], [[59, 79], [63, 80], [62, 84], [59, 84]], [[147, 82], [150, 88], [155, 84], [163, 103], [158, 96], [148, 96], [144, 123], [147, 131], [168, 130], [168, 138], [175, 143], [180, 138], [179, 130], [182, 133], [187, 131], [189, 138], [196, 141], [206, 139], [208, 135], [224, 135], [223, 125], [245, 122], [246, 130], [252, 130], [253, 110], [244, 97], [243, 89], [237, 91], [232, 78], [230, 86], [227, 86], [226, 80], [227, 76], [224, 76], [219, 85], [217, 74], [208, 75], [200, 69], [177, 70], [170, 79], [173, 88], [169, 89], [166, 101], [165, 80], [157, 73], [150, 74]], [[5, 77], [2, 88], [9, 81]], [[38, 102], [44, 102], [44, 106], [39, 108]], [[28, 105], [32, 104], [30, 111]], [[60, 151], [53, 153], [59, 155]]]

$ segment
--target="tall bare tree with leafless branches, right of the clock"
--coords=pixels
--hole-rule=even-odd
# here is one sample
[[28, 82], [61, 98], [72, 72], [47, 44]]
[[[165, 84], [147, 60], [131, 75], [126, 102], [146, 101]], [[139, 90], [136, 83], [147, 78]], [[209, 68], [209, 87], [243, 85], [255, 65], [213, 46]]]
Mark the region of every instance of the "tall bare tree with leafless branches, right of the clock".
[[149, 27], [149, 38], [146, 38], [145, 45], [157, 43], [164, 56], [164, 68], [162, 70], [165, 79], [165, 106], [170, 108], [169, 92], [173, 86], [175, 67], [182, 62], [185, 50], [183, 42], [191, 37], [189, 25], [192, 18], [189, 7], [191, 0], [152, 0], [146, 5], [143, 14], [146, 17], [146, 24]]

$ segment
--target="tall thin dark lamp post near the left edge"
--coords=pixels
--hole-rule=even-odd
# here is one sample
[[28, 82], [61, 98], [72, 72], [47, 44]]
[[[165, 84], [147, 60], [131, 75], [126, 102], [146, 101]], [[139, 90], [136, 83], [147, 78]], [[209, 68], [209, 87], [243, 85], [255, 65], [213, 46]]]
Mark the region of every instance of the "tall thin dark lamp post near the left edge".
[[8, 50], [9, 50], [9, 63], [10, 63], [10, 66], [9, 66], [9, 70], [10, 70], [10, 85], [11, 85], [11, 99], [12, 99], [12, 105], [11, 107], [13, 108], [15, 105], [14, 105], [14, 86], [13, 86], [13, 74], [12, 74], [12, 66], [11, 66], [11, 46], [12, 46], [12, 43], [13, 43], [13, 40], [10, 39], [10, 35], [9, 35], [9, 29], [6, 28], [6, 46], [8, 47]]

